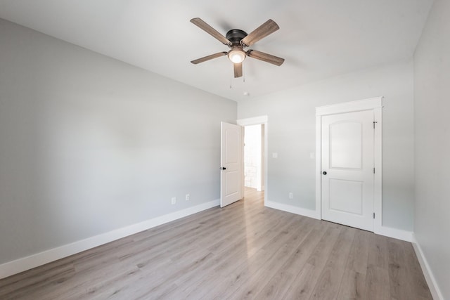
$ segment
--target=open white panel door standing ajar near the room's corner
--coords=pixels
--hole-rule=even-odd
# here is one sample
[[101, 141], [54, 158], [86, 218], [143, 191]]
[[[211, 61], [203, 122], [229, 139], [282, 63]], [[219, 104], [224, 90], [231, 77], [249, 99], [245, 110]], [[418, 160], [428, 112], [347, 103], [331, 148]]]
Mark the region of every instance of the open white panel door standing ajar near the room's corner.
[[243, 127], [221, 122], [220, 207], [242, 199]]

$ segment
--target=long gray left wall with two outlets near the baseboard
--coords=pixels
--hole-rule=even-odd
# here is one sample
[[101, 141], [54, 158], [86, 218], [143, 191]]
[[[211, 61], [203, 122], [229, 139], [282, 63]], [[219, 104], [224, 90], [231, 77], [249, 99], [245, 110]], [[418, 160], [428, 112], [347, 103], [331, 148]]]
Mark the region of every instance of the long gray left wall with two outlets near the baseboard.
[[233, 120], [231, 100], [0, 19], [0, 264], [217, 200]]

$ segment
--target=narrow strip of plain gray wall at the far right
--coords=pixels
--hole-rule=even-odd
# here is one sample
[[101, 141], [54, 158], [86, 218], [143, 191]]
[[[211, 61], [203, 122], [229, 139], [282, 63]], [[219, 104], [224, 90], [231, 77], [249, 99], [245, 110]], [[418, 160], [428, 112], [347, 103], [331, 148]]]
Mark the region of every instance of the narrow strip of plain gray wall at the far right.
[[435, 1], [414, 55], [414, 233], [450, 299], [450, 1]]

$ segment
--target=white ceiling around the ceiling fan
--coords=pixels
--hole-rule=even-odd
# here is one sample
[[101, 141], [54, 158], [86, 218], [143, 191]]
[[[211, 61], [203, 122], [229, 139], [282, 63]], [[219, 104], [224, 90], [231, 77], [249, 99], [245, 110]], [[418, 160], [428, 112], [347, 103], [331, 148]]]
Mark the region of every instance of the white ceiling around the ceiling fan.
[[[239, 101], [411, 58], [432, 1], [0, 0], [0, 18]], [[224, 35], [271, 18], [280, 30], [250, 48], [285, 63], [247, 58], [245, 83], [231, 78], [226, 56], [191, 64], [228, 51], [195, 17]]]

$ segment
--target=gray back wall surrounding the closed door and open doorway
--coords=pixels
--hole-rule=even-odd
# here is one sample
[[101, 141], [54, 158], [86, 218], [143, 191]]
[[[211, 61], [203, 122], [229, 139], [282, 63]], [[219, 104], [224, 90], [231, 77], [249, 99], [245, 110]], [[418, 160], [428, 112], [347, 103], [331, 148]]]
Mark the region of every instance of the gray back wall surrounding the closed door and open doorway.
[[[238, 104], [238, 118], [268, 115], [270, 201], [315, 209], [315, 107], [385, 96], [383, 225], [413, 229], [413, 63], [344, 74]], [[272, 158], [272, 152], [278, 158]], [[288, 199], [293, 192], [294, 199]]]

